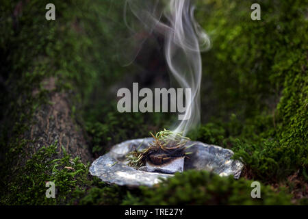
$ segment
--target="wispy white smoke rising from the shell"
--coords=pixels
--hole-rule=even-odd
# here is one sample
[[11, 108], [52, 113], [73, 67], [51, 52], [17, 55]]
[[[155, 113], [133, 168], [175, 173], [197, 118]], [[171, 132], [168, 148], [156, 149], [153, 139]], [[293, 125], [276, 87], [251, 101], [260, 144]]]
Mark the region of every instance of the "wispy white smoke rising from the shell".
[[191, 101], [185, 106], [185, 116], [189, 119], [181, 120], [173, 130], [185, 135], [200, 122], [200, 52], [209, 49], [209, 37], [194, 20], [190, 0], [127, 0], [125, 13], [128, 10], [148, 34], [155, 31], [164, 36], [164, 52], [172, 77], [181, 88], [192, 90]]

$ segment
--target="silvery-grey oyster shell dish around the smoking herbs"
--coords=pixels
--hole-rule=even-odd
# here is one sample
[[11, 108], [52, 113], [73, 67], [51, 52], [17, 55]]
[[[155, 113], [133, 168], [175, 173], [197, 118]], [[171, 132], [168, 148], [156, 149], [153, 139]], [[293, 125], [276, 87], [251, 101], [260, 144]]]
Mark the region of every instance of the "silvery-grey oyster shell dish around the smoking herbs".
[[[153, 169], [149, 170], [146, 166], [139, 169], [127, 166], [128, 162], [125, 156], [136, 149], [142, 151], [148, 148], [151, 142], [153, 142], [153, 138], [140, 138], [114, 145], [109, 153], [94, 160], [90, 166], [91, 175], [99, 177], [106, 183], [129, 187], [140, 185], [151, 187], [159, 183], [159, 178], [172, 177], [173, 174], [153, 172]], [[185, 158], [184, 160], [184, 171], [190, 169], [207, 170], [215, 172], [221, 177], [229, 175], [233, 175], [235, 179], [240, 177], [244, 165], [238, 160], [231, 159], [233, 151], [203, 142], [190, 141], [187, 144], [193, 145], [187, 149], [192, 153], [189, 155], [189, 159]]]

